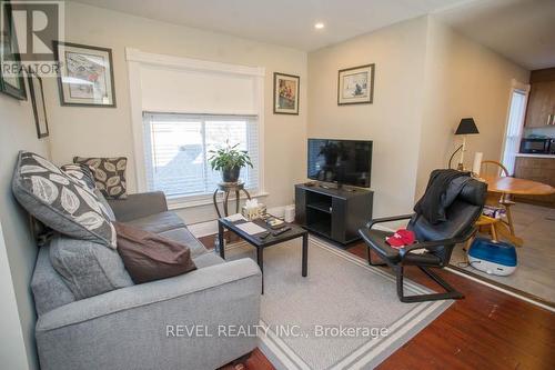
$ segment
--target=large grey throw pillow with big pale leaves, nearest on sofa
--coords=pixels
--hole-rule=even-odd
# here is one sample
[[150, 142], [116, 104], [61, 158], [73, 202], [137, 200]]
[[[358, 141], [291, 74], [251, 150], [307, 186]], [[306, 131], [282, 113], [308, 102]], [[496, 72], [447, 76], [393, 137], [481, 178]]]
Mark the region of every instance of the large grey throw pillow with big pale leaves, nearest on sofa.
[[20, 151], [12, 190], [21, 206], [51, 229], [115, 249], [115, 230], [97, 196], [44, 158]]

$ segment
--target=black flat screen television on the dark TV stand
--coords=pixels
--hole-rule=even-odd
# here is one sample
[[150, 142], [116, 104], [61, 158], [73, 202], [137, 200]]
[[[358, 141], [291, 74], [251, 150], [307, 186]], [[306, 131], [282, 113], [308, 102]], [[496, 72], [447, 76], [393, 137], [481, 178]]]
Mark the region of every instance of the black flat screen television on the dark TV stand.
[[309, 139], [309, 179], [370, 188], [372, 141]]

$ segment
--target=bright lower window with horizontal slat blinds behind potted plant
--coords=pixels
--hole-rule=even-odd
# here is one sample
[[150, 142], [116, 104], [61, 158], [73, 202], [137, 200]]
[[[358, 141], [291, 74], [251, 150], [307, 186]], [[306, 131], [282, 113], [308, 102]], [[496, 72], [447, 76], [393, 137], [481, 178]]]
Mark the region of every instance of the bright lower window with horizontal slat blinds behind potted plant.
[[210, 168], [209, 151], [226, 140], [249, 152], [253, 168], [243, 168], [241, 180], [248, 189], [259, 188], [256, 116], [144, 112], [143, 123], [149, 190], [168, 197], [212, 193], [221, 174]]

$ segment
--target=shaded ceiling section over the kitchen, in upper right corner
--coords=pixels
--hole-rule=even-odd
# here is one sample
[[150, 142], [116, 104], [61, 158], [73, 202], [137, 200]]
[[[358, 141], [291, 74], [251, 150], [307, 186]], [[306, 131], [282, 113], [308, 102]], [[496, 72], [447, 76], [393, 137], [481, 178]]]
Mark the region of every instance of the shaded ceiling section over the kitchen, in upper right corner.
[[481, 0], [435, 14], [529, 70], [555, 67], [555, 0]]

